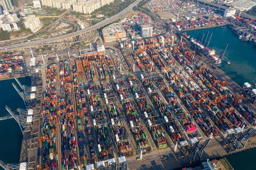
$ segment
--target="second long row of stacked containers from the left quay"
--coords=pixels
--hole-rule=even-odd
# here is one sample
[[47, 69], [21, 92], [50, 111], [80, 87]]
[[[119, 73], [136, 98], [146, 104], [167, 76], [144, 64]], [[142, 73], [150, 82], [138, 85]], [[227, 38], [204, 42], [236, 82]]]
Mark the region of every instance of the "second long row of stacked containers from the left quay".
[[63, 170], [67, 170], [78, 166], [78, 160], [76, 158], [77, 140], [75, 135], [75, 114], [68, 62], [65, 61], [64, 64], [60, 62], [60, 68], [62, 68], [60, 69], [60, 71], [62, 70], [62, 72], [60, 72], [61, 93], [64, 98], [64, 102], [59, 104], [61, 116], [61, 166]]

